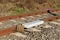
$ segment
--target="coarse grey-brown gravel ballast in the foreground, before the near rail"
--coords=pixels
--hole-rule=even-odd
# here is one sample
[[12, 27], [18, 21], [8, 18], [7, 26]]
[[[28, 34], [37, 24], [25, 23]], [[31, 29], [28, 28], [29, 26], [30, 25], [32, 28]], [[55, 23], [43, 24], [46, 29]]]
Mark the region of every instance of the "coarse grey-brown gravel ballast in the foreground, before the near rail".
[[[36, 26], [34, 28], [26, 29], [24, 33], [10, 33], [8, 35], [1, 36], [1, 40], [36, 40], [36, 39], [41, 39], [41, 40], [46, 40], [48, 38], [49, 40], [57, 39], [60, 37], [57, 36], [58, 33], [60, 33], [60, 25], [55, 24], [53, 22], [59, 23], [59, 20], [51, 21], [48, 23], [44, 23], [42, 25]], [[46, 28], [46, 27], [48, 28]], [[41, 28], [43, 27], [43, 28]], [[49, 36], [50, 35], [50, 36]], [[59, 40], [58, 39], [58, 40]]]

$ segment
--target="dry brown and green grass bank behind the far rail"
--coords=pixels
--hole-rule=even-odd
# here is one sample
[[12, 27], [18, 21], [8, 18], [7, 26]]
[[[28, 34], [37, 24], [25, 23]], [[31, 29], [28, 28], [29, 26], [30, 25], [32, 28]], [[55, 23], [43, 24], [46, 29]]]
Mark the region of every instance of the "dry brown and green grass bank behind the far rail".
[[[52, 0], [51, 0], [52, 1]], [[19, 15], [22, 13], [44, 11], [48, 9], [57, 9], [60, 8], [60, 2], [46, 0], [1, 0], [0, 1], [0, 15], [10, 16], [10, 15]], [[45, 3], [46, 2], [46, 3]], [[48, 4], [51, 4], [51, 6]], [[53, 6], [52, 6], [53, 5]]]

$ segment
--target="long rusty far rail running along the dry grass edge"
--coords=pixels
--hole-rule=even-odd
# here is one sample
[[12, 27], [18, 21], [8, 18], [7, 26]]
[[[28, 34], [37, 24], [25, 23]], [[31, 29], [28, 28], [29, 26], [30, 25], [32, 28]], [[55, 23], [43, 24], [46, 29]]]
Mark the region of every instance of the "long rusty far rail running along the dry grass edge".
[[[60, 11], [60, 9], [51, 10], [51, 11], [52, 12]], [[27, 16], [41, 15], [41, 14], [46, 14], [46, 13], [47, 13], [47, 10], [42, 11], [42, 12], [38, 11], [38, 12], [26, 13], [26, 14], [20, 14], [20, 15], [5, 16], [5, 17], [1, 17], [0, 21], [6, 21], [6, 20], [9, 20], [9, 19], [16, 19], [16, 18], [27, 17]]]

